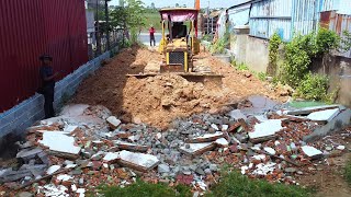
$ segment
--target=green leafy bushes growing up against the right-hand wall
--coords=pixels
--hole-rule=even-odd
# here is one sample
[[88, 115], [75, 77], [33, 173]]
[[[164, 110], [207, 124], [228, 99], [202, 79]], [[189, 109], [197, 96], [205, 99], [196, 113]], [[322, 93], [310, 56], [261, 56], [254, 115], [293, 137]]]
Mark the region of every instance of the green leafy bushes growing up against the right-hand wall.
[[[276, 42], [275, 42], [276, 43]], [[290, 43], [284, 45], [285, 58], [280, 76], [280, 81], [296, 89], [295, 96], [314, 101], [330, 101], [328, 95], [328, 78], [312, 74], [309, 71], [314, 58], [336, 49], [340, 43], [339, 36], [329, 30], [320, 27], [317, 33], [295, 35]], [[272, 44], [272, 58], [276, 60]]]

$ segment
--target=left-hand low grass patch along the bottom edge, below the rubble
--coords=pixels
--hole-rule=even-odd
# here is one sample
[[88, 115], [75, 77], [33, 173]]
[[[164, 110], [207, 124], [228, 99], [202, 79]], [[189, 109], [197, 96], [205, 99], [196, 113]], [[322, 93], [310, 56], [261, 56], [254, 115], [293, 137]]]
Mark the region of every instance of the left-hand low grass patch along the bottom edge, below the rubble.
[[105, 197], [191, 197], [191, 190], [189, 187], [178, 185], [176, 188], [171, 188], [166, 184], [150, 184], [137, 179], [136, 183], [126, 186], [124, 188], [118, 186], [102, 186], [101, 192]]

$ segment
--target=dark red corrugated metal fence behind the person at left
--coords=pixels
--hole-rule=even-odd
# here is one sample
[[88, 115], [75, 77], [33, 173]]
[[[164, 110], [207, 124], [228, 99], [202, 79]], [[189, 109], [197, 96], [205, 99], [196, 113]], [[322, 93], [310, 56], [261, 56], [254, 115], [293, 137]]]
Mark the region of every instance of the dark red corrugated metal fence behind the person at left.
[[88, 61], [83, 0], [1, 0], [0, 26], [0, 113], [35, 93], [39, 55], [61, 78]]

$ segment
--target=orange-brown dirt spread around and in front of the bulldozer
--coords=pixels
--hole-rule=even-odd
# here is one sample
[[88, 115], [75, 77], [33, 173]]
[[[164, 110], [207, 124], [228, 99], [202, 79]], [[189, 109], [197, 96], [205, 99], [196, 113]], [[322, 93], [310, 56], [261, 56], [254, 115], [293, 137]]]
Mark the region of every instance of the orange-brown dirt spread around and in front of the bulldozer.
[[176, 74], [146, 79], [126, 77], [143, 72], [150, 61], [161, 62], [161, 58], [157, 51], [147, 48], [135, 46], [125, 49], [88, 78], [72, 102], [104, 105], [124, 121], [146, 123], [165, 129], [176, 117], [201, 112], [215, 113], [223, 104], [249, 95], [286, 100], [270, 90], [265, 82], [250, 73], [237, 71], [207, 53], [200, 54], [195, 63], [211, 67], [212, 72], [223, 74], [222, 88], [190, 82]]

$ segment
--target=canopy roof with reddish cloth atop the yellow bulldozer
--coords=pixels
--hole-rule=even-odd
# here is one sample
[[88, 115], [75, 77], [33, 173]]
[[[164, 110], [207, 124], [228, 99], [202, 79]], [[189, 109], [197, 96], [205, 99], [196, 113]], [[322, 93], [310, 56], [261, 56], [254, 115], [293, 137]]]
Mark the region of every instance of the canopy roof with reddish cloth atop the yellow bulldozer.
[[170, 18], [172, 22], [184, 22], [197, 20], [199, 11], [189, 8], [162, 9], [160, 14], [162, 20], [169, 20]]

